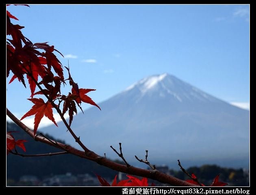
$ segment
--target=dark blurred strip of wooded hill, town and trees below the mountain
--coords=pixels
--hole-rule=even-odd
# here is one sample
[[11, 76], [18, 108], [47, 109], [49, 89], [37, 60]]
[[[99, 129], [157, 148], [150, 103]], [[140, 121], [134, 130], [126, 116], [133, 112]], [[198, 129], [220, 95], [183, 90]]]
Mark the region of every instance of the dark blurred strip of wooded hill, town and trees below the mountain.
[[[26, 153], [17, 148], [22, 154], [45, 154], [59, 152], [58, 149], [34, 141], [15, 124], [7, 122], [7, 131], [18, 131], [15, 139], [25, 139]], [[49, 139], [52, 139], [47, 135]], [[158, 170], [168, 173], [180, 179], [187, 179], [182, 171], [174, 171], [167, 166], [157, 166]], [[221, 168], [216, 165], [203, 165], [190, 167], [189, 173], [194, 173], [205, 185], [210, 185], [213, 178], [220, 173], [220, 180], [229, 183], [230, 186], [248, 186], [249, 172], [243, 169]], [[7, 156], [7, 185], [8, 186], [98, 186], [95, 173], [112, 182], [117, 171], [100, 166], [89, 160], [64, 154], [59, 156], [21, 157], [13, 154]], [[119, 174], [119, 178], [126, 178], [125, 174]], [[152, 181], [156, 185], [164, 185]]]

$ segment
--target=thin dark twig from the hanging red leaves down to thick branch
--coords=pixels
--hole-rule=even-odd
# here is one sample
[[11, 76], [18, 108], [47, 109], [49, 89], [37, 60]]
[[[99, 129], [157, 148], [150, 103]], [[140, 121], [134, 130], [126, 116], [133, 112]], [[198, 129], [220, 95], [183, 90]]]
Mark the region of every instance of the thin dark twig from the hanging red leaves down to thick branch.
[[43, 93], [43, 95], [46, 96], [46, 98], [48, 99], [48, 101], [52, 104], [52, 106], [56, 109], [57, 113], [60, 115], [61, 120], [63, 121], [63, 123], [65, 124], [65, 126], [67, 127], [67, 130], [70, 132], [70, 134], [72, 135], [72, 137], [74, 137], [75, 141], [82, 147], [83, 150], [85, 150], [86, 154], [89, 154], [89, 152], [91, 152], [87, 147], [85, 147], [85, 145], [80, 141], [80, 137], [77, 137], [76, 134], [74, 133], [74, 131], [70, 128], [70, 126], [67, 124], [66, 119], [64, 118], [63, 114], [61, 113], [60, 108], [58, 108], [58, 106], [56, 106], [56, 104], [54, 104], [53, 100], [43, 91], [43, 88], [39, 85], [39, 83], [37, 82], [37, 80], [33, 77], [33, 75], [28, 72], [27, 73], [35, 82], [35, 84], [37, 85], [37, 87], [41, 90], [41, 92]]

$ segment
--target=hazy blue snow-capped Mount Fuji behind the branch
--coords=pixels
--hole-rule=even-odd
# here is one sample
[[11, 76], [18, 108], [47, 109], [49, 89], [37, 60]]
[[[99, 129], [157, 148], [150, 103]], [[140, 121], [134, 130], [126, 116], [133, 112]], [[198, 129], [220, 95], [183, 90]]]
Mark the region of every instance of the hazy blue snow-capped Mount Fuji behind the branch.
[[[152, 164], [249, 165], [249, 111], [232, 106], [169, 74], [149, 76], [79, 113], [71, 128], [100, 155], [130, 162], [149, 150]], [[77, 146], [63, 123], [41, 129]], [[177, 166], [177, 165], [176, 165]]]

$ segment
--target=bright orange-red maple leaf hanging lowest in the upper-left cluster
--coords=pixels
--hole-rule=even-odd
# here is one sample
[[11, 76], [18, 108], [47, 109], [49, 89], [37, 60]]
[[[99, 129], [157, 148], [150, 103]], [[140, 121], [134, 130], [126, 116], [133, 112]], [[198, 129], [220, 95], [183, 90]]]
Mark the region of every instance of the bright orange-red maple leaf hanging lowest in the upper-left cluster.
[[52, 104], [50, 102], [44, 102], [42, 98], [31, 98], [28, 99], [31, 102], [33, 102], [35, 105], [32, 106], [32, 108], [30, 109], [30, 111], [28, 111], [20, 120], [35, 115], [35, 121], [34, 121], [34, 134], [36, 134], [37, 132], [37, 128], [38, 125], [41, 121], [41, 119], [43, 118], [43, 115], [45, 115], [46, 117], [48, 117], [48, 119], [50, 119], [56, 126], [58, 126], [54, 120], [53, 114], [52, 114]]

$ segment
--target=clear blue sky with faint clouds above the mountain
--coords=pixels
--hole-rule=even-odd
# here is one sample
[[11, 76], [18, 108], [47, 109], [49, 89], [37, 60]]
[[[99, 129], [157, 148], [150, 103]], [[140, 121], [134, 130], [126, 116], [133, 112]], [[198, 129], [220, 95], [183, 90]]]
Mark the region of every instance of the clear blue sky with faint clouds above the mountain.
[[[65, 56], [58, 56], [63, 65], [69, 59], [80, 88], [97, 89], [88, 94], [95, 102], [167, 72], [221, 100], [249, 106], [249, 5], [30, 5], [7, 10], [32, 42], [54, 45]], [[17, 81], [7, 84], [7, 107], [19, 117], [32, 106], [26, 100], [29, 92]], [[27, 120], [33, 124], [33, 118]]]

